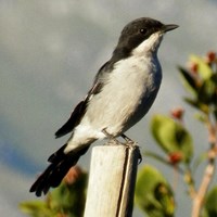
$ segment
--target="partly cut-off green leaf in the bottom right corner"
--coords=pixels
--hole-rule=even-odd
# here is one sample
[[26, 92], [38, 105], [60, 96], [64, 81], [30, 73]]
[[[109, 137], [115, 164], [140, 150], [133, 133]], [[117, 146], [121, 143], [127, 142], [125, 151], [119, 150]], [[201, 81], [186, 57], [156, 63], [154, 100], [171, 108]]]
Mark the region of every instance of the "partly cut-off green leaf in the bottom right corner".
[[208, 192], [203, 210], [203, 217], [216, 217], [216, 216], [217, 216], [217, 186], [214, 187]]

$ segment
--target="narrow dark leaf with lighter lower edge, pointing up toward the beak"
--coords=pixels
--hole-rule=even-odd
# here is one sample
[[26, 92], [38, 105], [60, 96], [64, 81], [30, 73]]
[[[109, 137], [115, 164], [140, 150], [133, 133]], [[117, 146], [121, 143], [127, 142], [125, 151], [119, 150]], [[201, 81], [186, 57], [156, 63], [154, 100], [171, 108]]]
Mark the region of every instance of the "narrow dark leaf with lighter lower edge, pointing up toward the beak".
[[199, 90], [199, 87], [196, 85], [196, 81], [194, 79], [194, 77], [183, 67], [178, 66], [178, 69], [181, 74], [181, 78], [182, 78], [182, 82], [183, 86], [194, 95], [196, 95], [196, 92]]

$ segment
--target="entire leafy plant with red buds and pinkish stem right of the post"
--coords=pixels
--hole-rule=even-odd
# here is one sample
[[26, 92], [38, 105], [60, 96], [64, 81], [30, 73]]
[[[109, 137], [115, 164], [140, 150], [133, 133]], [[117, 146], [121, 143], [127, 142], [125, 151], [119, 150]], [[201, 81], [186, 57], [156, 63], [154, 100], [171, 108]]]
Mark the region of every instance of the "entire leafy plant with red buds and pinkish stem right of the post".
[[[145, 156], [180, 173], [188, 188], [188, 194], [192, 199], [192, 216], [199, 217], [203, 209], [202, 217], [216, 217], [217, 187], [207, 193], [207, 182], [210, 183], [214, 178], [217, 158], [217, 56], [214, 52], [209, 52], [206, 58], [191, 55], [190, 67], [179, 66], [178, 69], [182, 84], [189, 92], [184, 101], [196, 108], [194, 117], [208, 131], [207, 148], [199, 156], [193, 154], [195, 145], [191, 132], [184, 127], [184, 111], [176, 108], [170, 112], [169, 116], [161, 114], [153, 116], [151, 131], [164, 154], [145, 151]], [[201, 173], [203, 177], [196, 189], [194, 173], [200, 168], [199, 165], [202, 162], [206, 162], [207, 167], [205, 168], [206, 173]], [[210, 168], [213, 173], [210, 173]], [[203, 181], [204, 177], [206, 178], [205, 182]], [[200, 182], [200, 180], [196, 181]], [[164, 193], [156, 194], [159, 186], [164, 187], [165, 190], [162, 191]], [[144, 166], [139, 170], [136, 204], [149, 217], [175, 216], [176, 204], [174, 201], [171, 187], [156, 168]]]

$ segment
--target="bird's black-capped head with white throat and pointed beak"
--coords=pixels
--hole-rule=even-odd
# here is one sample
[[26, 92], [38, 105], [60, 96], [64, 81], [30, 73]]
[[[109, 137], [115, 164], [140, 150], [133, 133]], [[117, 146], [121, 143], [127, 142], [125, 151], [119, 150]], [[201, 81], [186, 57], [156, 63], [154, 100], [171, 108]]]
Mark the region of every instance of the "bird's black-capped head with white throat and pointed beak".
[[156, 53], [164, 34], [177, 27], [149, 17], [135, 20], [124, 27], [113, 54], [127, 58], [132, 53]]

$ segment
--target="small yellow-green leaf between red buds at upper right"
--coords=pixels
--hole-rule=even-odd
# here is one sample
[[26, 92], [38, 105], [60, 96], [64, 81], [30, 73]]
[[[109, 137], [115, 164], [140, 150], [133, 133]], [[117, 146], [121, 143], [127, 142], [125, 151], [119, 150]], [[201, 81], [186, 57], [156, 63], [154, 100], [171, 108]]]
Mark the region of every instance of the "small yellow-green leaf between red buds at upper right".
[[197, 56], [197, 55], [191, 55], [190, 61], [195, 63], [199, 66], [199, 74], [202, 79], [206, 80], [208, 79], [213, 72], [210, 66], [205, 62], [204, 59]]

